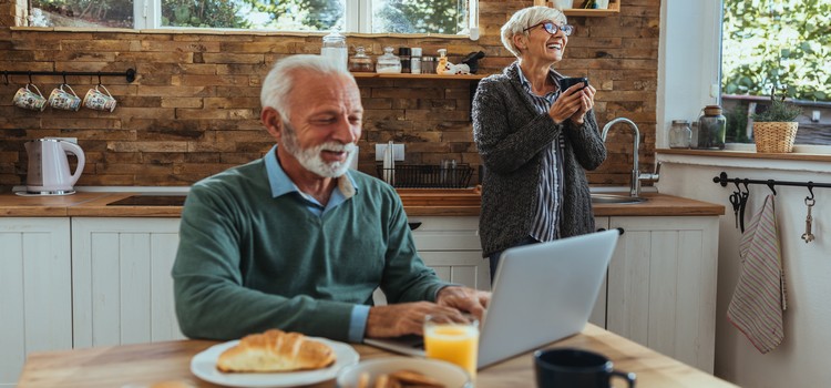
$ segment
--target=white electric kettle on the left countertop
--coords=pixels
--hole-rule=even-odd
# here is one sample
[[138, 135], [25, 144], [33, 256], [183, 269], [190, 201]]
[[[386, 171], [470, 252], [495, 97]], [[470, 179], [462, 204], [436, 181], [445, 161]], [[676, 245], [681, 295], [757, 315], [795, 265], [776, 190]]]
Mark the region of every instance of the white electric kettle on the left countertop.
[[[72, 186], [84, 171], [86, 157], [78, 144], [58, 139], [39, 139], [25, 143], [29, 173], [25, 190], [30, 194], [72, 194]], [[78, 157], [74, 173], [70, 173], [68, 154]]]

